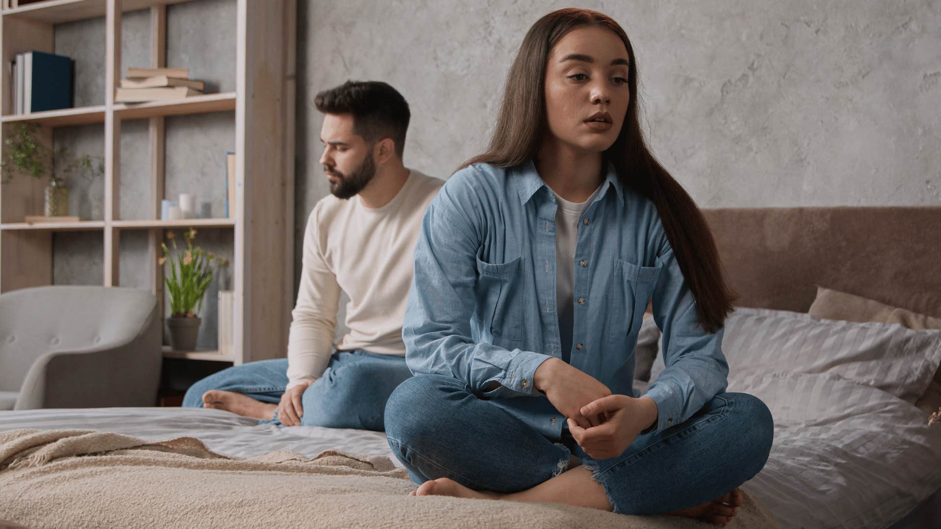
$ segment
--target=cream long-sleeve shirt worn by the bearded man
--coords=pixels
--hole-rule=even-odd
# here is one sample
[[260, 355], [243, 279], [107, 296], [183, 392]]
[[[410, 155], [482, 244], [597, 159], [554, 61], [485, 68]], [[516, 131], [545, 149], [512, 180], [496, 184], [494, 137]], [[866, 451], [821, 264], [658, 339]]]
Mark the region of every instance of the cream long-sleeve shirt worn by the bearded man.
[[[288, 334], [288, 388], [319, 378], [337, 350], [404, 357], [402, 322], [422, 216], [444, 184], [414, 169], [388, 203], [368, 208], [359, 195], [327, 195], [304, 232], [303, 268]], [[346, 327], [334, 347], [340, 291]]]

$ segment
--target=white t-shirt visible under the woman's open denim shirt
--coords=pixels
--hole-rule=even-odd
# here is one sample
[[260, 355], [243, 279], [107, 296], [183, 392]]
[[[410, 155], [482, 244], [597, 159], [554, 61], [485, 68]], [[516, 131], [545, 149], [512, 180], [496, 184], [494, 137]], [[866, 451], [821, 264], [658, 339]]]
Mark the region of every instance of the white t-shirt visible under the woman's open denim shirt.
[[[601, 186], [598, 185], [598, 189]], [[572, 349], [572, 325], [575, 291], [575, 247], [578, 245], [579, 223], [582, 213], [598, 195], [598, 189], [588, 200], [569, 202], [555, 195], [555, 303], [559, 312], [559, 337], [562, 341], [562, 360], [568, 361]]]

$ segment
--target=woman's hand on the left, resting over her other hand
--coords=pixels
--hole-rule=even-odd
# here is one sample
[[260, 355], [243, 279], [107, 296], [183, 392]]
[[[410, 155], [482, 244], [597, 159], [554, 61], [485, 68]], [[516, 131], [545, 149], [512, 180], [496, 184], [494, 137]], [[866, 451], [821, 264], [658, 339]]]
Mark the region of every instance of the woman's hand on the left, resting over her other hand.
[[582, 407], [610, 395], [611, 390], [595, 377], [565, 361], [551, 358], [539, 364], [535, 370], [533, 384], [535, 389], [546, 393], [555, 409], [574, 420], [576, 425], [588, 428], [600, 425], [604, 420], [600, 411], [582, 414]]

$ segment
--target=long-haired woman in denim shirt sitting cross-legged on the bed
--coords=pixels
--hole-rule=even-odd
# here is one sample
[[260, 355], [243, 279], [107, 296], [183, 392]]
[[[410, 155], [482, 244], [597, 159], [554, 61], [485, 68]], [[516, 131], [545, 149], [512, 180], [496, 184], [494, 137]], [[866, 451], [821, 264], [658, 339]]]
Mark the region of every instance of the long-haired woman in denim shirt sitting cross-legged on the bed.
[[[724, 393], [732, 309], [694, 201], [648, 151], [630, 40], [561, 9], [529, 30], [488, 151], [423, 218], [386, 407], [393, 453], [446, 494], [725, 524], [771, 449], [770, 411]], [[667, 365], [633, 349], [653, 299]]]

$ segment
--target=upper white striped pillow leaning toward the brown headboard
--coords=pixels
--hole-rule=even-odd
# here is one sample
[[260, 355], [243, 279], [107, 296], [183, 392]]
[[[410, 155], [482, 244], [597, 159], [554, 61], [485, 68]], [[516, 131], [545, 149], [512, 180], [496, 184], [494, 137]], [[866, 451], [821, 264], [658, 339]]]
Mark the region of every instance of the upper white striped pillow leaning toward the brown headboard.
[[[867, 384], [915, 404], [941, 364], [941, 330], [855, 323], [740, 307], [726, 319], [728, 378], [814, 373]], [[650, 370], [660, 376], [662, 347]]]

